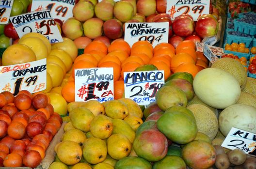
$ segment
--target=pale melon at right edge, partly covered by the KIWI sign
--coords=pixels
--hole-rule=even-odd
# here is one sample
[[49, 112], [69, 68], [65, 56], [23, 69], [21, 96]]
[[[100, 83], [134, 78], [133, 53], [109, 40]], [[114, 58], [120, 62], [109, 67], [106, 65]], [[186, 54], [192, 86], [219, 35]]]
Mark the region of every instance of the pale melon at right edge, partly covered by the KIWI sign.
[[219, 127], [224, 136], [232, 127], [256, 133], [256, 108], [245, 104], [228, 106], [220, 113]]

